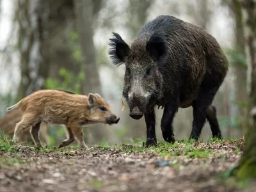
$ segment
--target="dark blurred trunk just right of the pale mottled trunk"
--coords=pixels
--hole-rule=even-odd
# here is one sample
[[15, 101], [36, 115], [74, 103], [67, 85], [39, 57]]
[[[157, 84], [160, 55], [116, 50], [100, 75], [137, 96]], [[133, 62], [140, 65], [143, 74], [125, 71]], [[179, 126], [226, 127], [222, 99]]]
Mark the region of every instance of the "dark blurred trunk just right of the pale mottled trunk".
[[76, 27], [74, 25], [74, 1], [45, 0], [45, 3], [48, 4], [50, 18], [47, 27], [49, 38], [45, 44], [50, 67], [49, 77], [63, 81], [63, 77], [59, 74], [60, 68], [67, 69], [74, 76], [77, 76], [81, 70], [80, 61], [74, 58], [76, 42], [72, 39], [72, 31]]

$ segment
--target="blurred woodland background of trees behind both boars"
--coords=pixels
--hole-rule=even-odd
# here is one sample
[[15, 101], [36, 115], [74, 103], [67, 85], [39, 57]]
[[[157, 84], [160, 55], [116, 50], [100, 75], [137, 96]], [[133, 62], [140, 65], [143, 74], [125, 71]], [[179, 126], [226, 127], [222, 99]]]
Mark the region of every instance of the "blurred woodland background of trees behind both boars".
[[[145, 120], [121, 112], [124, 66], [108, 58], [112, 31], [131, 43], [140, 28], [158, 15], [173, 15], [211, 33], [225, 50], [230, 69], [214, 100], [223, 136], [239, 138], [246, 127], [246, 70], [241, 4], [238, 0], [2, 0], [0, 12], [0, 116], [15, 101], [40, 89], [100, 93], [117, 125], [84, 127], [86, 143], [123, 142], [145, 137]], [[162, 109], [156, 111], [157, 138]], [[175, 138], [188, 138], [192, 110], [179, 109]], [[65, 136], [62, 126], [49, 125], [52, 145]], [[14, 128], [13, 128], [14, 129]], [[206, 124], [202, 140], [211, 137]]]

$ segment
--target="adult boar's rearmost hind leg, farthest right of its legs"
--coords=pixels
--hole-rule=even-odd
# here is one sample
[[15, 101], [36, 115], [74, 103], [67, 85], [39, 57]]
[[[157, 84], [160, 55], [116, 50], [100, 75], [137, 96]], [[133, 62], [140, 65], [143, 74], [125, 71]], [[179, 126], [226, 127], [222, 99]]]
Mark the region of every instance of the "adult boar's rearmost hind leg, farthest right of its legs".
[[209, 106], [206, 109], [206, 118], [210, 124], [211, 131], [212, 131], [212, 137], [213, 138], [218, 138], [221, 139], [221, 131], [220, 131], [220, 125], [217, 120], [217, 115], [216, 115], [216, 108], [215, 106]]

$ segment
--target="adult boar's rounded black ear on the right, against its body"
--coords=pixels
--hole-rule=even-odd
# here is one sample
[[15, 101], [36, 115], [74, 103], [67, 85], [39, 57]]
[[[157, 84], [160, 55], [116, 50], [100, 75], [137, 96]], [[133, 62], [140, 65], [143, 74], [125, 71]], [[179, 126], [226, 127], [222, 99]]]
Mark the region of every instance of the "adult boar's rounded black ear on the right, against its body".
[[166, 52], [166, 49], [166, 42], [161, 38], [161, 35], [156, 33], [150, 37], [146, 45], [146, 50], [155, 60], [159, 60], [159, 58]]

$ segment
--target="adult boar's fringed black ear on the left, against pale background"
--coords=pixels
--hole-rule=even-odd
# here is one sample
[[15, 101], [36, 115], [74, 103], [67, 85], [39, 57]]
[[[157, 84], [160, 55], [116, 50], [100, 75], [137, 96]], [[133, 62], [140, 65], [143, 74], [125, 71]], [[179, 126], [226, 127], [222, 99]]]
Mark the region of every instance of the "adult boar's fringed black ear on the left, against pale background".
[[118, 33], [113, 33], [115, 38], [109, 38], [110, 49], [109, 56], [114, 65], [122, 65], [125, 63], [125, 57], [129, 54], [130, 47], [127, 45]]

